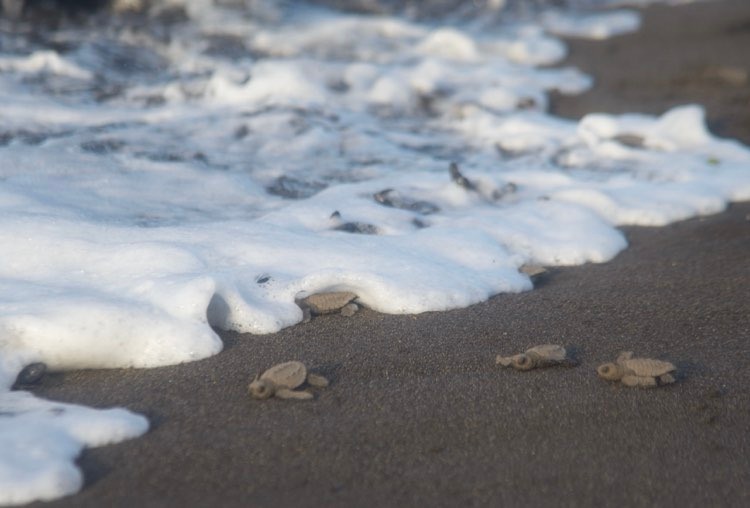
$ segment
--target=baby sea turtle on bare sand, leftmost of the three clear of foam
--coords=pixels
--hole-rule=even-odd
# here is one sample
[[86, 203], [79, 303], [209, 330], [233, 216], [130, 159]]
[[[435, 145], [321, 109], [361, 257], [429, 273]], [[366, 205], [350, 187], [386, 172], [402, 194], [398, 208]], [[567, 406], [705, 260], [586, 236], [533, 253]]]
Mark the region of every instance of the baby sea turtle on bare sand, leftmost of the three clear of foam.
[[323, 376], [308, 373], [305, 364], [291, 361], [274, 365], [263, 374], [255, 376], [247, 389], [254, 399], [267, 399], [276, 396], [280, 399], [312, 399], [312, 393], [294, 389], [305, 381], [310, 386], [324, 388], [328, 380]]

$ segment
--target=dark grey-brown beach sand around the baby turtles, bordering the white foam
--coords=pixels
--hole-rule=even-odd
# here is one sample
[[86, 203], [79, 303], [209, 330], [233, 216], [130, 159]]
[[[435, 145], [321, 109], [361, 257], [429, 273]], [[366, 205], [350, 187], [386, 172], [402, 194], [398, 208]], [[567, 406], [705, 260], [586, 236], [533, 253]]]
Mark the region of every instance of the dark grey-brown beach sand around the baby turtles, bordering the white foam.
[[[641, 35], [573, 43], [570, 63], [602, 88], [555, 110], [699, 101], [750, 143], [748, 85], [696, 70], [750, 72], [748, 37], [745, 0], [647, 9]], [[612, 262], [463, 310], [325, 316], [224, 334], [224, 352], [193, 364], [49, 375], [39, 395], [125, 406], [153, 428], [86, 450], [83, 491], [45, 506], [750, 506], [750, 203], [625, 232]], [[580, 365], [495, 365], [545, 342]], [[672, 361], [677, 383], [599, 379], [625, 349]], [[314, 401], [247, 396], [289, 359], [331, 386]]]

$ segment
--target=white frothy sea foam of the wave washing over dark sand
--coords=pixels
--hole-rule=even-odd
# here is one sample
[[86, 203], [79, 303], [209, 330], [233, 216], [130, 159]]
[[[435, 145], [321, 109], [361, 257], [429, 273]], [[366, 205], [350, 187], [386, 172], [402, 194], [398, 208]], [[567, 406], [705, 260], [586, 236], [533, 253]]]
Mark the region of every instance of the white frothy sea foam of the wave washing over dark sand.
[[[534, 67], [564, 54], [542, 25], [187, 7], [186, 23], [62, 30], [65, 51], [2, 35], [0, 504], [76, 491], [83, 446], [147, 428], [10, 391], [24, 365], [197, 360], [221, 349], [211, 325], [274, 332], [327, 290], [463, 307], [530, 289], [525, 263], [611, 259], [616, 226], [750, 199], [750, 151], [699, 106], [545, 114], [548, 90], [590, 79]], [[552, 16], [603, 35], [635, 19]]]

